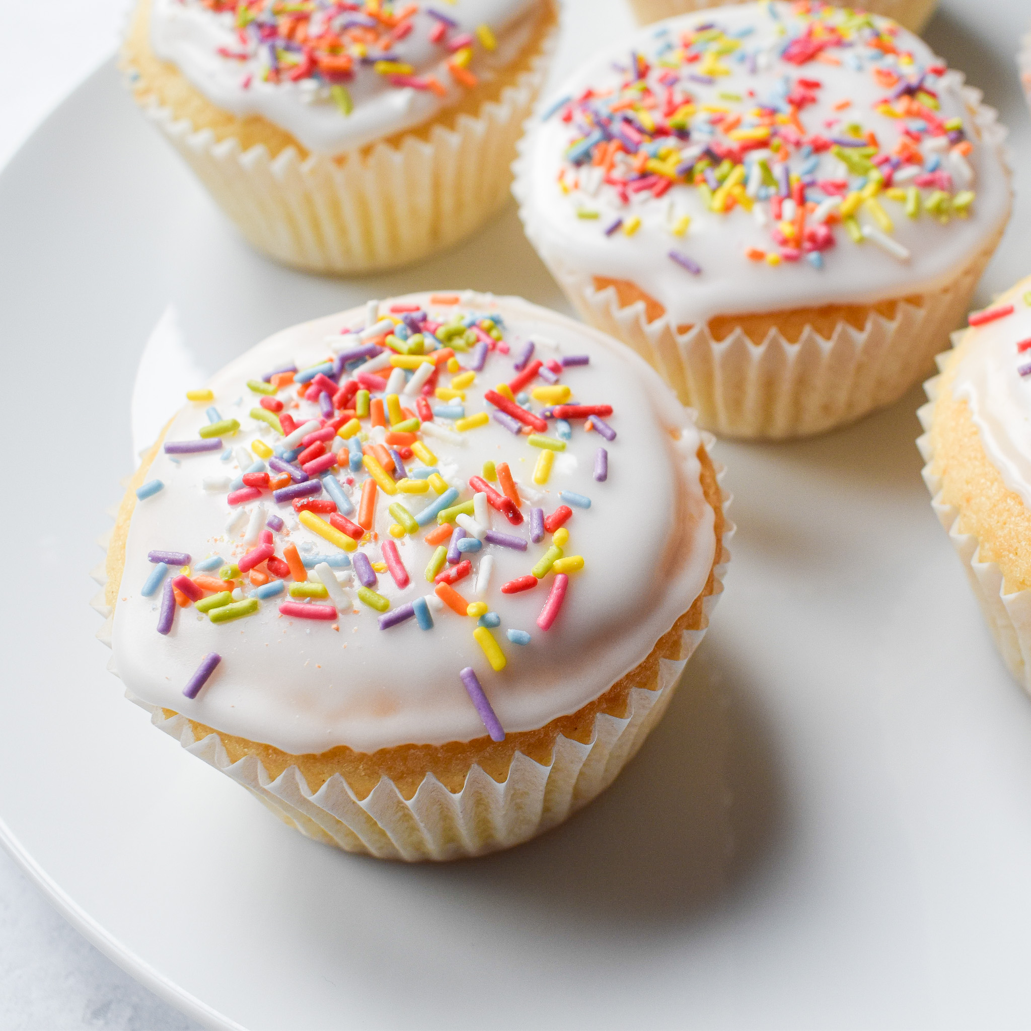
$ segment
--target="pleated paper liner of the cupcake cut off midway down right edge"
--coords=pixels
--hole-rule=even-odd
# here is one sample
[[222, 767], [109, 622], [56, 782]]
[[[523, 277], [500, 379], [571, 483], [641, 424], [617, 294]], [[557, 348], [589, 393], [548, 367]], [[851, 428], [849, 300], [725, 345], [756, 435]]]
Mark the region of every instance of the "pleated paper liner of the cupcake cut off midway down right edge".
[[[962, 331], [953, 334], [954, 347], [959, 345], [963, 335]], [[943, 368], [943, 359], [947, 354], [939, 356], [939, 368]], [[929, 401], [917, 412], [925, 430], [917, 441], [920, 454], [927, 463], [922, 470], [924, 483], [931, 492], [931, 507], [963, 563], [974, 597], [1006, 667], [1013, 679], [1031, 695], [1031, 591], [1006, 593], [1002, 570], [994, 562], [982, 561], [979, 538], [960, 529], [960, 510], [942, 500], [941, 479], [934, 473], [934, 446], [930, 430], [939, 378], [934, 376], [924, 384]]]

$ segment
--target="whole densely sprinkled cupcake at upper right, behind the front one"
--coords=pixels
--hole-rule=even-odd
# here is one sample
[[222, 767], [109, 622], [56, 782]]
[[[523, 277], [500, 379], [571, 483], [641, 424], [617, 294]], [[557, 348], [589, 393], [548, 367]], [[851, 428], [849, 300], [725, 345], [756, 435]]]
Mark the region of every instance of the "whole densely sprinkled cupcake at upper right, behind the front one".
[[570, 302], [701, 425], [803, 436], [900, 397], [967, 310], [1011, 203], [979, 96], [885, 19], [721, 7], [574, 74], [513, 189]]

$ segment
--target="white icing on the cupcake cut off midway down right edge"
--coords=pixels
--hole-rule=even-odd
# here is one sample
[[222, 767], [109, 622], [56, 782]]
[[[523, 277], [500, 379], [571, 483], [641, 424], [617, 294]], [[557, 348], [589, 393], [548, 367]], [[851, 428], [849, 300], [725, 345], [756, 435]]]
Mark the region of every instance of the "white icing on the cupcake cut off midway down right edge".
[[982, 446], [1009, 490], [1031, 508], [1031, 351], [1017, 344], [1031, 339], [1031, 307], [1024, 295], [1031, 279], [1015, 287], [992, 307], [1012, 304], [1011, 315], [967, 330], [959, 358], [953, 396], [966, 401]]

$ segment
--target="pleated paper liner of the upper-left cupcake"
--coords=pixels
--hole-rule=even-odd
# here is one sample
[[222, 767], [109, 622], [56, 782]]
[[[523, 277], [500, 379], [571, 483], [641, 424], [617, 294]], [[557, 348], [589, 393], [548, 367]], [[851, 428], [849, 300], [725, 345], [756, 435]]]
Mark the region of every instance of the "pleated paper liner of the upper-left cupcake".
[[353, 155], [275, 158], [218, 140], [152, 98], [142, 107], [240, 232], [259, 251], [312, 272], [395, 268], [451, 246], [502, 207], [523, 123], [530, 115], [558, 39], [548, 32], [516, 86], [454, 128], [434, 125]]

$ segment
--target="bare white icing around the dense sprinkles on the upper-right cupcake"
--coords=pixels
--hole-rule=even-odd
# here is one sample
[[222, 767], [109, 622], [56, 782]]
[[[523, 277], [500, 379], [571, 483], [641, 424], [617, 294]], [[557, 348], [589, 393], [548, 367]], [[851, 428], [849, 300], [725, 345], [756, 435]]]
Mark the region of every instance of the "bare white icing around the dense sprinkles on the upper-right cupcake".
[[[785, 76], [792, 84], [798, 78], [819, 79], [825, 85], [813, 91], [818, 101], [799, 112], [807, 134], [841, 135], [844, 125], [855, 121], [864, 132], [872, 130], [876, 134], [883, 152], [893, 151], [901, 128], [911, 120], [890, 118], [874, 109], [874, 104], [892, 91], [874, 81], [869, 62], [860, 59], [859, 54], [850, 56], [843, 48], [830, 52], [842, 58], [837, 67], [820, 61], [794, 65], [776, 58], [770, 47], [783, 45], [781, 27], [791, 25], [794, 18], [789, 4], [777, 3], [773, 7], [775, 13], [772, 15], [766, 4], [753, 3], [683, 15], [651, 26], [599, 55], [555, 91], [552, 101], [542, 106], [546, 111], [551, 103], [566, 96], [579, 97], [588, 88], [598, 92], [618, 88], [622, 73], [613, 64], [626, 68], [632, 51], [651, 60], [665, 41], [676, 39], [678, 33], [692, 26], [712, 23], [728, 35], [753, 29], [742, 37], [738, 54], [765, 56], [759, 57], [756, 73], [747, 70], [746, 60], [738, 61], [734, 54], [724, 57], [722, 63], [731, 73], [717, 78], [711, 86], [690, 78], [691, 72], [700, 70], [700, 63], [684, 66], [680, 85], [694, 96], [699, 108], [703, 104], [716, 104], [732, 111], [744, 111], [746, 104], [728, 102], [721, 99], [720, 94], [743, 97], [749, 90], [754, 90], [757, 97], [764, 98], [775, 93]], [[937, 63], [927, 45], [911, 33], [903, 30], [898, 39], [900, 48], [912, 52], [917, 65]], [[853, 59], [860, 61], [862, 71], [850, 67]], [[895, 67], [892, 58], [885, 58], [879, 65]], [[973, 153], [967, 159], [974, 173], [969, 189], [976, 192], [972, 214], [967, 219], [954, 218], [947, 225], [926, 213], [912, 221], [904, 213], [903, 204], [882, 194], [878, 200], [894, 221], [893, 239], [911, 253], [907, 261], [887, 254], [869, 240], [854, 243], [838, 226], [835, 229], [837, 244], [824, 253], [823, 269], [813, 268], [804, 259], [797, 263], [784, 262], [773, 268], [745, 257], [750, 247], [766, 252], [775, 250], [768, 228], [758, 224], [755, 212], [735, 207], [729, 214], [714, 213], [705, 206], [694, 187], [676, 185], [658, 199], [644, 191], [632, 195], [627, 206], [608, 186], [602, 185], [593, 191], [589, 173], [588, 186], [580, 182], [579, 189], [567, 195], [557, 179], [561, 169], [565, 169], [570, 178], [576, 174], [576, 166], [565, 161], [564, 155], [579, 133], [555, 114], [537, 125], [526, 144], [520, 184], [520, 192], [524, 195], [521, 197], [523, 218], [531, 239], [547, 261], [563, 269], [635, 282], [666, 308], [674, 325], [697, 323], [718, 314], [783, 310], [832, 302], [873, 303], [930, 290], [955, 276], [958, 269], [993, 239], [1005, 223], [1010, 206], [1008, 176], [1001, 148], [994, 138], [996, 133], [990, 142], [976, 138], [977, 129], [965, 103], [962, 82], [962, 76], [950, 71], [933, 89], [940, 96], [940, 118], [949, 121], [961, 117], [973, 143]], [[851, 106], [846, 110], [834, 110], [834, 104], [842, 100], [851, 100]], [[692, 119], [691, 141], [677, 144], [684, 152], [690, 151], [696, 139], [704, 139], [698, 137], [698, 128], [704, 119], [704, 113]], [[828, 128], [825, 123], [830, 119], [838, 121]], [[926, 143], [924, 151], [930, 155]], [[802, 163], [797, 156], [793, 157], [791, 170], [797, 171]], [[949, 165], [943, 168], [947, 169]], [[818, 178], [840, 178], [844, 173], [844, 166], [830, 152], [821, 156], [813, 172]], [[957, 182], [957, 191], [963, 188]], [[930, 192], [922, 191], [925, 197]], [[670, 204], [674, 209], [672, 215]], [[767, 213], [767, 223], [771, 221], [768, 202], [759, 203], [757, 207]], [[577, 217], [577, 209], [595, 210], [599, 217], [581, 219]], [[641, 219], [641, 227], [635, 235], [627, 236], [622, 231], [608, 237], [603, 235], [604, 227], [616, 218], [626, 220], [633, 215]], [[690, 228], [685, 236], [674, 236], [669, 226], [683, 215], [691, 217]], [[863, 225], [874, 225], [862, 209], [858, 218]], [[692, 275], [671, 261], [668, 257], [671, 248], [696, 261], [702, 273]]]

